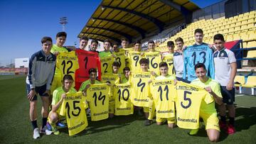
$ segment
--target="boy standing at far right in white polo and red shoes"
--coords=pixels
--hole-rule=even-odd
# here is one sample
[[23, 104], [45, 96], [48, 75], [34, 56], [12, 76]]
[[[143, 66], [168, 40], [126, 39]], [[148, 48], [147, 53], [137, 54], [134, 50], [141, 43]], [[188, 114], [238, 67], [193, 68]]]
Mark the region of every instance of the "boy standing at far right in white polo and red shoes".
[[224, 37], [221, 34], [214, 35], [214, 45], [217, 49], [213, 53], [215, 66], [215, 80], [220, 83], [220, 91], [223, 95], [223, 103], [227, 105], [229, 123], [226, 124], [226, 106], [219, 106], [220, 128], [224, 128], [228, 134], [235, 133], [235, 89], [234, 79], [237, 72], [235, 55], [231, 50], [224, 47]]

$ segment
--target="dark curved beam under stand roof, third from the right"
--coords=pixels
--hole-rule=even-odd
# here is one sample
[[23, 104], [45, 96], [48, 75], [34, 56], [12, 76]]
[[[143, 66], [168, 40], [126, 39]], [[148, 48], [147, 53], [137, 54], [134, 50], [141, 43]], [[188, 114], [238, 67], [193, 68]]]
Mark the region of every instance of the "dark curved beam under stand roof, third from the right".
[[126, 26], [126, 27], [128, 27], [128, 28], [132, 28], [134, 31], [137, 31], [137, 33], [139, 33], [141, 36], [142, 36], [142, 39], [144, 39], [145, 38], [145, 33], [146, 33], [146, 31], [144, 31], [142, 28], [139, 28], [139, 27], [137, 27], [137, 26], [132, 26], [131, 24], [129, 24], [129, 23], [123, 23], [123, 22], [121, 22], [121, 21], [115, 21], [115, 20], [110, 20], [110, 19], [106, 19], [106, 18], [93, 18], [92, 17], [92, 20], [101, 20], [101, 21], [110, 21], [110, 22], [112, 22], [112, 23], [118, 23], [118, 24], [120, 24], [120, 25], [123, 25], [123, 26]]

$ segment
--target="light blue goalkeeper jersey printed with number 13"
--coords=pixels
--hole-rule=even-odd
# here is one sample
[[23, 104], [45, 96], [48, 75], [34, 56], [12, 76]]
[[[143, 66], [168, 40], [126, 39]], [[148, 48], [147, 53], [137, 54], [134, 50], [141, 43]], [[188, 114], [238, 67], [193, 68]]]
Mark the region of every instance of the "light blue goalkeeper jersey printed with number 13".
[[206, 65], [207, 76], [214, 79], [214, 63], [213, 63], [213, 50], [211, 50], [206, 43], [201, 45], [188, 46], [184, 52], [184, 72], [183, 79], [188, 77], [188, 81], [196, 79], [195, 65], [203, 63]]

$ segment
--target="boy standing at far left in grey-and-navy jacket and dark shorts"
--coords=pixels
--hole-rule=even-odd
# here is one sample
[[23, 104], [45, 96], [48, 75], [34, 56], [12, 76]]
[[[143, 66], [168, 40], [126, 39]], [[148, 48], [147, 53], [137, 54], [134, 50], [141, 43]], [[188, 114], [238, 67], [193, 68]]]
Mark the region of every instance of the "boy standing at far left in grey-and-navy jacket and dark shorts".
[[48, 117], [50, 85], [53, 80], [56, 57], [50, 50], [53, 40], [50, 37], [43, 37], [41, 40], [42, 50], [34, 53], [28, 65], [28, 76], [26, 77], [26, 89], [30, 101], [29, 116], [33, 126], [33, 138], [40, 138], [37, 125], [36, 104], [37, 97], [41, 96], [42, 106], [42, 127], [41, 133], [46, 133], [46, 121]]

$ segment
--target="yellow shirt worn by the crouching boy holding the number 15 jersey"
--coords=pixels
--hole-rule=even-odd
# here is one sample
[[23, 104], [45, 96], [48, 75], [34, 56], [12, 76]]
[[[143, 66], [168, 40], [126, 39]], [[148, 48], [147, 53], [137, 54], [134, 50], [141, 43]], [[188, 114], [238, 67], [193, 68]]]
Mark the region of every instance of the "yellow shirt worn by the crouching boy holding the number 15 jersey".
[[[69, 90], [70, 93], [75, 93], [77, 92], [73, 87]], [[53, 91], [53, 100], [52, 100], [52, 104], [51, 105], [55, 105], [58, 103], [58, 101], [60, 101], [61, 99], [61, 95], [65, 94], [63, 87], [58, 87], [57, 89], [55, 89], [55, 91]], [[56, 113], [60, 113], [60, 107], [57, 109]]]

